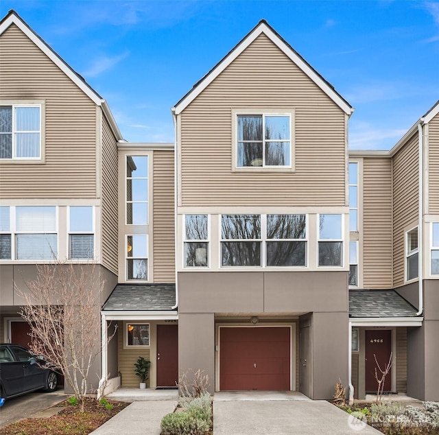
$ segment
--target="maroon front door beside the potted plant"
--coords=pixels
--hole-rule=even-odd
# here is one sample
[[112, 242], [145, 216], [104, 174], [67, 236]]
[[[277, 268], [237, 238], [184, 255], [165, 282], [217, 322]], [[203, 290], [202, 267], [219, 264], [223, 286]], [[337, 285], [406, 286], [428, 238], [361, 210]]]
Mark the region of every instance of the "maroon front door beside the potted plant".
[[178, 325], [157, 325], [157, 386], [178, 382]]

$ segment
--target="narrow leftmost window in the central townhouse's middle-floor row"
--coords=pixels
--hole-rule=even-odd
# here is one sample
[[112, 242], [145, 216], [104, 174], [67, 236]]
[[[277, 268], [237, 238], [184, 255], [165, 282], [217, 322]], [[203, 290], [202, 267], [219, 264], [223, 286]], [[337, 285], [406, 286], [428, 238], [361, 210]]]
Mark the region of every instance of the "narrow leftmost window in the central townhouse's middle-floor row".
[[209, 267], [209, 217], [185, 215], [185, 267]]

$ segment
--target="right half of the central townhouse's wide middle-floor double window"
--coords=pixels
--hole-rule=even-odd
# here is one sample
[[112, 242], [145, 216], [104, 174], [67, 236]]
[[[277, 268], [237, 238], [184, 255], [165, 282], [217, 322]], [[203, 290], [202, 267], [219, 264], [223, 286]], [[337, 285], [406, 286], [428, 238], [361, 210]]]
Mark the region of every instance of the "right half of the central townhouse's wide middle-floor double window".
[[267, 266], [306, 266], [306, 215], [267, 215]]

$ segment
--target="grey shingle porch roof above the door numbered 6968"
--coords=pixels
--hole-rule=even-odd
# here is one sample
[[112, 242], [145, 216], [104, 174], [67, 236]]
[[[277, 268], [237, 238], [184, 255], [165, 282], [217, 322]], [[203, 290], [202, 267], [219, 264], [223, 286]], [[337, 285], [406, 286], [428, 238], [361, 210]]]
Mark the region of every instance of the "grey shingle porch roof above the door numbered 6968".
[[394, 290], [349, 290], [349, 317], [414, 317], [417, 312]]

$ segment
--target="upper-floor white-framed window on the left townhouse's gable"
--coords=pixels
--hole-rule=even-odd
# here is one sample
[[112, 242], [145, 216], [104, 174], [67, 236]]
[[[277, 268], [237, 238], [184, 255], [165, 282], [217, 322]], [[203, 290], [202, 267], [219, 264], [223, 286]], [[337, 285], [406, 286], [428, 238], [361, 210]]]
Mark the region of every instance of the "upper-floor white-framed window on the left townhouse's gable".
[[0, 159], [41, 158], [41, 105], [0, 106]]

